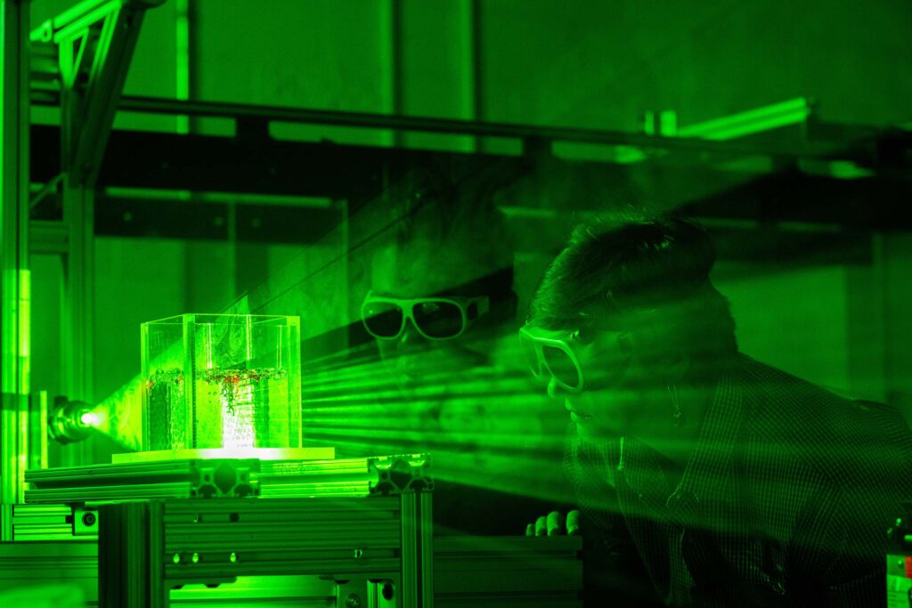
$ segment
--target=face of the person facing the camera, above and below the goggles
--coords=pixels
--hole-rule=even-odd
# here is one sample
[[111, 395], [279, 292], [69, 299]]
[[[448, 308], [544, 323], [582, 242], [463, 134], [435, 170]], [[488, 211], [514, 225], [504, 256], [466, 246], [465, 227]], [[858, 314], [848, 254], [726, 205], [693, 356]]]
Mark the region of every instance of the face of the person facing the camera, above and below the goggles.
[[[422, 298], [456, 294], [451, 290], [472, 280], [478, 265], [460, 251], [424, 240], [387, 247], [371, 263], [371, 291], [391, 298]], [[472, 333], [445, 340], [428, 340], [411, 321], [395, 339], [377, 339], [380, 358], [400, 388], [481, 366], [485, 357], [472, 350]]]

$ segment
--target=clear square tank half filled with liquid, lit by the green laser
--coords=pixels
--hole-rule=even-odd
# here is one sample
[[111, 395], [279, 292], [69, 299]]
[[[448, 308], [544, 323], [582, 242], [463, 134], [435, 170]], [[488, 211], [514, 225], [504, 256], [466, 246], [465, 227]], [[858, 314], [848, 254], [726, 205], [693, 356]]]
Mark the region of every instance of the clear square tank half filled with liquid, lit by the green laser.
[[181, 314], [141, 341], [143, 450], [301, 446], [298, 317]]

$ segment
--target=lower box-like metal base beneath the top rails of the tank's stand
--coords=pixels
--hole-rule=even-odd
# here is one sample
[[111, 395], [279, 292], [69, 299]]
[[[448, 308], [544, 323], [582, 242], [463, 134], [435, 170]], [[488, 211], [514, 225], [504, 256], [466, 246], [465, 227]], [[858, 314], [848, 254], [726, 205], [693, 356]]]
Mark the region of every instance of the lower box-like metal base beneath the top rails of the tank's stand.
[[100, 606], [159, 608], [174, 587], [282, 574], [334, 582], [338, 606], [433, 606], [428, 493], [119, 503], [99, 521]]

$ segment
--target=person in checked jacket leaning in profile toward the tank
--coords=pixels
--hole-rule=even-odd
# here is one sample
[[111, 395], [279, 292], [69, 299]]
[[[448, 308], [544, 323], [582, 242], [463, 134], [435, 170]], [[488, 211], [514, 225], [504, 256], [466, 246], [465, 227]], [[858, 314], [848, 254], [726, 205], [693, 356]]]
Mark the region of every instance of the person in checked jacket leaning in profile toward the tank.
[[714, 261], [695, 222], [631, 217], [575, 232], [535, 294], [521, 338], [570, 412], [585, 533], [667, 605], [884, 605], [908, 428], [741, 355]]

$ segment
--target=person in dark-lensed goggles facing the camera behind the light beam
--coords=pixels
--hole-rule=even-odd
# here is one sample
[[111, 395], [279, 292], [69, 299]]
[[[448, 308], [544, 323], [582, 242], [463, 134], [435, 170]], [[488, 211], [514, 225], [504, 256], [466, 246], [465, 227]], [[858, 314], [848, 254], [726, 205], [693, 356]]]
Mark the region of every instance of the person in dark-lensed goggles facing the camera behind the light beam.
[[506, 222], [485, 188], [446, 171], [417, 172], [393, 195], [361, 307], [376, 383], [395, 388], [383, 411], [398, 431], [383, 448], [431, 452], [439, 533], [515, 533], [546, 504], [528, 496], [560, 478], [547, 456], [563, 422], [504, 356], [516, 328]]

